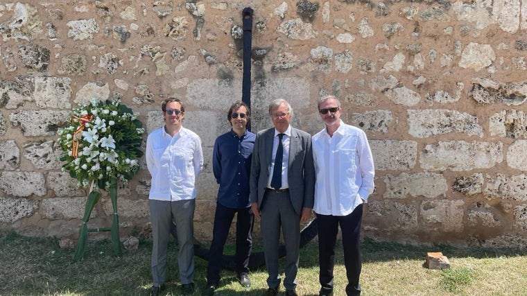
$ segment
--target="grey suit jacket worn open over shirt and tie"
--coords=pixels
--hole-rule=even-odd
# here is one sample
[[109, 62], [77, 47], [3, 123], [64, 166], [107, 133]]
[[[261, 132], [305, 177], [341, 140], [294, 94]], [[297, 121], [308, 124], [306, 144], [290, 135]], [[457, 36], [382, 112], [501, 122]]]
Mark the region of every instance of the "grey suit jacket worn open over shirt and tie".
[[[275, 128], [259, 131], [252, 150], [250, 202], [258, 202], [258, 209], [265, 206], [264, 193], [273, 162], [274, 136]], [[291, 128], [287, 177], [291, 204], [295, 212], [300, 215], [303, 207], [313, 209], [315, 166], [311, 149], [311, 134], [296, 128]]]

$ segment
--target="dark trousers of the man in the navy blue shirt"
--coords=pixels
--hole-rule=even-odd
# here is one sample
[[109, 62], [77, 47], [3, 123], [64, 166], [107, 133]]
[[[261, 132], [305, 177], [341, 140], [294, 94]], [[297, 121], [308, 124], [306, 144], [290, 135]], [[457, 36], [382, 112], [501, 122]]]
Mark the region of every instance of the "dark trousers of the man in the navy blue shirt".
[[252, 225], [254, 225], [254, 215], [251, 208], [230, 209], [217, 203], [209, 265], [207, 265], [207, 283], [209, 284], [218, 284], [220, 281], [223, 247], [227, 241], [227, 236], [229, 236], [229, 229], [235, 214], [238, 214], [236, 217], [236, 272], [249, 272]]

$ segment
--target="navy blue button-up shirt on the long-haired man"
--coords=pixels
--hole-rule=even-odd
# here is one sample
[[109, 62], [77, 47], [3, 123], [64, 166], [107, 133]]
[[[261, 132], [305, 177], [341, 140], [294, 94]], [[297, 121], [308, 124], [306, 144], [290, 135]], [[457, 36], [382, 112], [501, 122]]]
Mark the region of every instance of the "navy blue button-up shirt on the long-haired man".
[[212, 169], [216, 182], [220, 184], [218, 203], [223, 207], [250, 207], [249, 175], [254, 139], [256, 134], [252, 132], [245, 132], [238, 137], [231, 130], [218, 137], [214, 143]]

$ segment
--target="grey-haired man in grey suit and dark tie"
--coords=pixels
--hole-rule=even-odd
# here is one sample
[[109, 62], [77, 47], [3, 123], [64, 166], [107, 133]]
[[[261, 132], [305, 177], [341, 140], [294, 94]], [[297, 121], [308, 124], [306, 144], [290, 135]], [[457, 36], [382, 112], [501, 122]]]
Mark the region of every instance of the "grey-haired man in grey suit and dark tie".
[[267, 265], [266, 296], [277, 295], [280, 229], [286, 245], [284, 286], [287, 296], [296, 296], [300, 249], [300, 222], [311, 217], [315, 168], [311, 135], [289, 125], [291, 105], [276, 99], [269, 105], [274, 128], [257, 133], [252, 151], [250, 202], [260, 230]]

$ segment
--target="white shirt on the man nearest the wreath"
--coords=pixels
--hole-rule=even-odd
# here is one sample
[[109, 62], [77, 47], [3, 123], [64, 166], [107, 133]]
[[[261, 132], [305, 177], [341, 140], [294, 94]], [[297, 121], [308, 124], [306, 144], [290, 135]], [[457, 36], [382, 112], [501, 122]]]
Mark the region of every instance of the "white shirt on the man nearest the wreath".
[[203, 168], [201, 139], [186, 128], [171, 137], [163, 128], [146, 140], [146, 166], [152, 175], [151, 200], [196, 198], [196, 177]]

